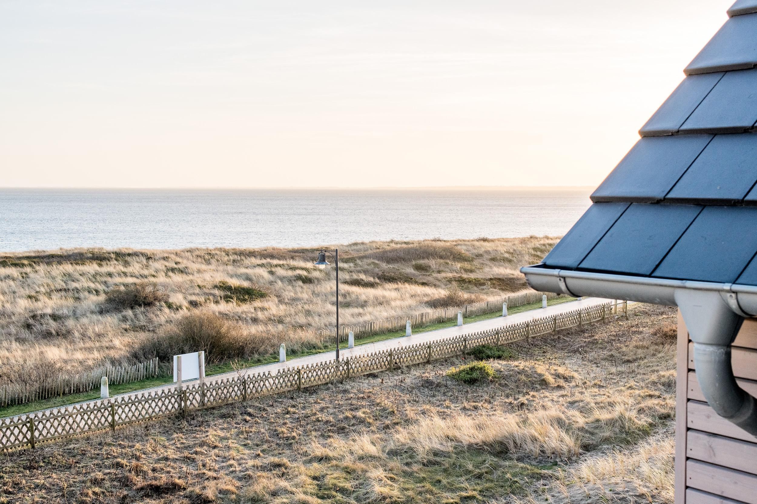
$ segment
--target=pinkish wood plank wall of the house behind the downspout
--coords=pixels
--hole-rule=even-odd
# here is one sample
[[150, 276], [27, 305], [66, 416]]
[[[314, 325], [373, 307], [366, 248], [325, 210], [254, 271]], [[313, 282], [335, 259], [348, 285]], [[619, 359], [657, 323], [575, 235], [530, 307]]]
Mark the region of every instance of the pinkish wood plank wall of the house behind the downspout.
[[[731, 351], [741, 388], [757, 397], [757, 320], [746, 320]], [[757, 438], [706, 403], [693, 344], [678, 314], [675, 503], [757, 504]]]

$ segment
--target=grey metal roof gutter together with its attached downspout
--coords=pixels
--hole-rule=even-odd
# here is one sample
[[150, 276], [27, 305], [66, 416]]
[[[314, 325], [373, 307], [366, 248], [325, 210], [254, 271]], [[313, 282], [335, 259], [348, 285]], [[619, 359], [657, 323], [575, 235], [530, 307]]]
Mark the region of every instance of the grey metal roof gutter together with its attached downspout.
[[702, 394], [715, 413], [757, 436], [757, 400], [739, 387], [731, 367], [731, 343], [744, 317], [757, 315], [755, 287], [553, 270], [540, 265], [522, 267], [521, 272], [528, 285], [540, 291], [678, 305], [694, 343]]

